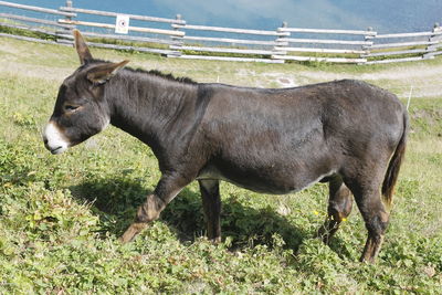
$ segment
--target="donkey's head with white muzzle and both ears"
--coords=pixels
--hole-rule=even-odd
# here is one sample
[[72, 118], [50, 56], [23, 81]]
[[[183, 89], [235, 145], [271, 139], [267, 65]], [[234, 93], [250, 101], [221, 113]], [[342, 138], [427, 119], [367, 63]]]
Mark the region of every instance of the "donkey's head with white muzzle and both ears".
[[74, 31], [75, 49], [81, 66], [60, 86], [54, 112], [44, 128], [44, 146], [52, 154], [62, 154], [102, 131], [110, 120], [104, 97], [106, 82], [128, 63], [96, 61], [80, 31]]

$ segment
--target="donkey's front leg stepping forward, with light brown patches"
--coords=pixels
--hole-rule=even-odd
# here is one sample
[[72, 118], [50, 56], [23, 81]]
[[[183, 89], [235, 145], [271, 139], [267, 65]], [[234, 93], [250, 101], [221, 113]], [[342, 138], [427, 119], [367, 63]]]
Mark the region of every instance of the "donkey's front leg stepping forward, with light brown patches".
[[119, 239], [123, 243], [130, 242], [146, 225], [159, 218], [166, 206], [189, 183], [182, 177], [165, 175], [161, 177], [152, 194], [147, 197], [138, 208], [134, 223]]

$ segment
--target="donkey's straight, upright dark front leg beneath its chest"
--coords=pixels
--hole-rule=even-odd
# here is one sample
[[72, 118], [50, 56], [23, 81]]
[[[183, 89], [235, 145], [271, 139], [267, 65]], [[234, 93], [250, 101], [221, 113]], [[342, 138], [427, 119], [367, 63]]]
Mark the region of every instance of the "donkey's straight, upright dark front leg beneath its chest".
[[221, 241], [221, 198], [219, 180], [199, 180], [202, 207], [204, 209], [207, 234], [213, 242]]

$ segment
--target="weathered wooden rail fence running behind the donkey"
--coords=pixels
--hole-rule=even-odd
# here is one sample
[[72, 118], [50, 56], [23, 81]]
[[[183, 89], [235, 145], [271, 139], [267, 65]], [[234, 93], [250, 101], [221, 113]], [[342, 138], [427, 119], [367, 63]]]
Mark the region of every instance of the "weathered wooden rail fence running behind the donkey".
[[[246, 30], [188, 24], [181, 15], [165, 19], [74, 8], [70, 0], [59, 9], [8, 1], [0, 1], [0, 8], [12, 10], [0, 12], [0, 27], [11, 29], [9, 33], [0, 33], [3, 36], [72, 45], [72, 30], [78, 28], [91, 46], [157, 53], [175, 59], [375, 64], [421, 61], [442, 54], [442, 28], [439, 24], [428, 32], [397, 34], [378, 34], [371, 28], [290, 28], [287, 23], [276, 30]], [[116, 28], [122, 25], [116, 20], [120, 17], [127, 22], [123, 23], [126, 32], [116, 33]], [[23, 31], [41, 33], [46, 39], [18, 33]]]

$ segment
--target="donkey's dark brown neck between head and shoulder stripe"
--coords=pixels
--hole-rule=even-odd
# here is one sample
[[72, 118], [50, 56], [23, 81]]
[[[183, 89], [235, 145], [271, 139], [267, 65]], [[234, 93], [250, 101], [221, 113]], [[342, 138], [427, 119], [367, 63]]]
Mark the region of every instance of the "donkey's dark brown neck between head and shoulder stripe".
[[130, 70], [108, 83], [110, 124], [149, 145], [155, 154], [192, 124], [198, 84]]

